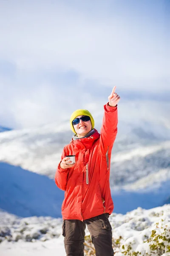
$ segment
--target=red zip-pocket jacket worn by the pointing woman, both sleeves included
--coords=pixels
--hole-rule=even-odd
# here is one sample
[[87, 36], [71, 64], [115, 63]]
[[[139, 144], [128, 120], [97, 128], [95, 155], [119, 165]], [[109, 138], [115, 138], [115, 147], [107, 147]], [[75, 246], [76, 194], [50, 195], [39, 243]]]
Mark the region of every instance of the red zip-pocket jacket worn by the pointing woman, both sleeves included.
[[101, 134], [95, 130], [87, 138], [71, 141], [62, 158], [76, 155], [74, 167], [58, 165], [55, 183], [65, 191], [63, 219], [85, 220], [104, 212], [113, 212], [109, 183], [111, 150], [117, 134], [117, 107], [104, 106]]

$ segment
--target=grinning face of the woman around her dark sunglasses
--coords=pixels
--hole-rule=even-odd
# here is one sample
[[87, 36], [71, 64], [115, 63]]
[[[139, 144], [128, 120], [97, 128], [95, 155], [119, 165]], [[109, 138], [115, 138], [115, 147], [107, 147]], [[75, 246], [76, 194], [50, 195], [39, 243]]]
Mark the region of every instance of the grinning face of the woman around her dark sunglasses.
[[[77, 116], [77, 117], [80, 118], [82, 116]], [[77, 125], [73, 125], [73, 126], [74, 126], [75, 132], [77, 133], [78, 138], [84, 137], [92, 129], [91, 120], [89, 120], [87, 122], [83, 122], [80, 119], [80, 122]]]

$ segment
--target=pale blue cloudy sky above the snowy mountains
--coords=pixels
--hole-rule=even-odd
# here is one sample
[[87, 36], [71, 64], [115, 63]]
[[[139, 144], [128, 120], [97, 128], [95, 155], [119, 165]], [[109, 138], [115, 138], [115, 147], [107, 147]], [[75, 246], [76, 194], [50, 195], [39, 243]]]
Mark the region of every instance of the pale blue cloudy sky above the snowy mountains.
[[112, 87], [168, 101], [168, 0], [1, 0], [0, 125], [65, 119]]

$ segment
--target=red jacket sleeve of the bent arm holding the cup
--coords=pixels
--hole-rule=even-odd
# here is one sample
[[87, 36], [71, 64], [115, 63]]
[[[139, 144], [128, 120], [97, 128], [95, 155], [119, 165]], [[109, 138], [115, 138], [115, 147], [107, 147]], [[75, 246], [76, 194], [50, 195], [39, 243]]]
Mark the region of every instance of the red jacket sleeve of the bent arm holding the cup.
[[[65, 155], [66, 154], [65, 154], [65, 149], [64, 149], [63, 152], [62, 152], [61, 161], [65, 157]], [[59, 165], [57, 167], [54, 180], [55, 180], [55, 183], [56, 183], [57, 187], [59, 189], [62, 189], [62, 190], [65, 191], [66, 190], [66, 186], [67, 186], [67, 178], [68, 178], [69, 168], [62, 169], [60, 167], [61, 161], [59, 162]]]

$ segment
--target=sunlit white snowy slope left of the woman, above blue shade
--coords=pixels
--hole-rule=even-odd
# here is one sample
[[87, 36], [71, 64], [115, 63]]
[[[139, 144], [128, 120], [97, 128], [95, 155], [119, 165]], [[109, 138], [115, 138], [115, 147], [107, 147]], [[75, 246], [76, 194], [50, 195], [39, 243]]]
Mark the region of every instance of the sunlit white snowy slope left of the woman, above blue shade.
[[71, 140], [69, 122], [0, 134], [0, 161], [54, 178], [62, 148]]

